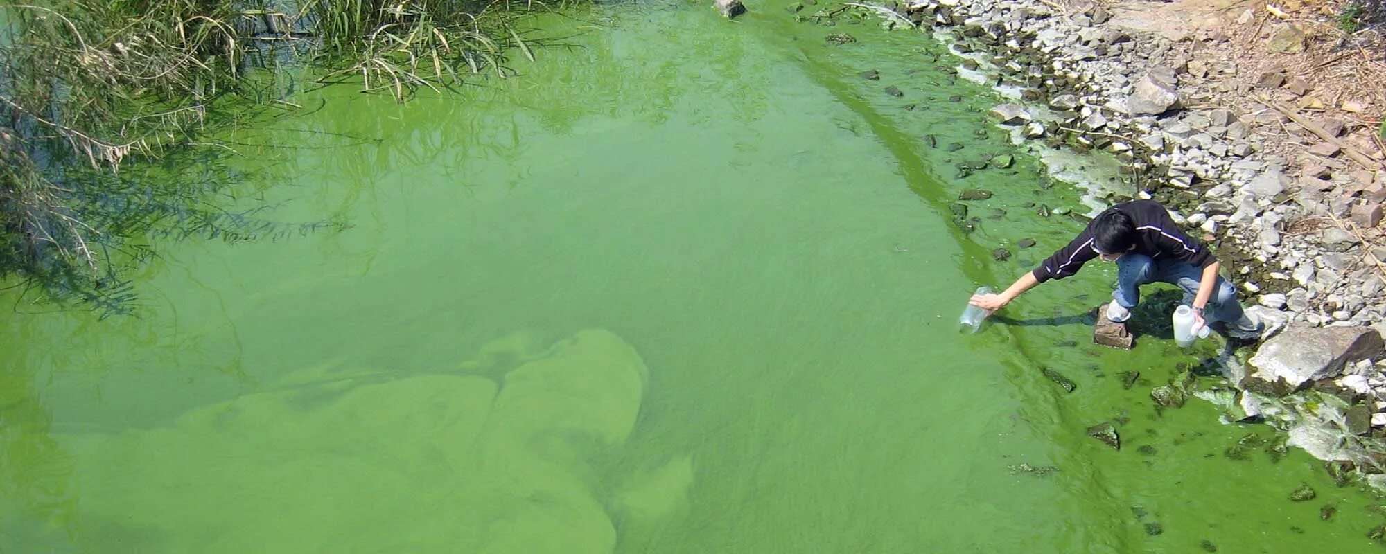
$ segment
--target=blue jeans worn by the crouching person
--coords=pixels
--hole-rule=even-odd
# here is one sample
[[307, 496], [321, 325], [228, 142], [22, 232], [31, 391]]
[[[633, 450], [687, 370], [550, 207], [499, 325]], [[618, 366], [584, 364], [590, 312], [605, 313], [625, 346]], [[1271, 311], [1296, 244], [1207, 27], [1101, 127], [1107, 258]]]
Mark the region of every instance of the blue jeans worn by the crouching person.
[[[1146, 255], [1124, 253], [1117, 258], [1117, 289], [1112, 291], [1112, 299], [1121, 307], [1132, 309], [1141, 303], [1141, 285], [1168, 283], [1184, 289], [1184, 303], [1193, 303], [1193, 298], [1199, 294], [1200, 280], [1203, 280], [1203, 270], [1192, 263], [1156, 262]], [[1209, 305], [1204, 307], [1203, 317], [1209, 324], [1235, 323], [1242, 319], [1242, 303], [1236, 299], [1236, 288], [1221, 276], [1218, 276]]]

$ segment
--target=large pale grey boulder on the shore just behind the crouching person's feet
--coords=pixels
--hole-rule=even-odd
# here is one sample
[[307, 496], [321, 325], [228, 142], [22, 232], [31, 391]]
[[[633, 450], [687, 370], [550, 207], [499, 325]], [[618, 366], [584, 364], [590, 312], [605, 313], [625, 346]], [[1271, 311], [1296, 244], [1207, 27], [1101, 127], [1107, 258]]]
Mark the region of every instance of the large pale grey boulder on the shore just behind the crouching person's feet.
[[1275, 385], [1283, 382], [1292, 391], [1311, 381], [1337, 377], [1343, 366], [1386, 355], [1380, 332], [1369, 327], [1304, 327], [1290, 325], [1265, 341], [1252, 356], [1254, 373], [1243, 379]]

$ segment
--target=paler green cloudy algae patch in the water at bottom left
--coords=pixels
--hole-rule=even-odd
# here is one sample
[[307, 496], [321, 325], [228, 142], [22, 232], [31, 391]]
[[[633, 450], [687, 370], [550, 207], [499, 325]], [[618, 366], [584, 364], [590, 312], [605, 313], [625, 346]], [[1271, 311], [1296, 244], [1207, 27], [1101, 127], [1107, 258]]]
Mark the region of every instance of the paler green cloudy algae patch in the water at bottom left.
[[486, 355], [523, 361], [499, 379], [305, 371], [169, 427], [72, 436], [97, 476], [83, 511], [157, 529], [159, 547], [141, 551], [610, 553], [614, 517], [686, 501], [687, 457], [613, 489], [589, 482], [586, 460], [620, 447], [640, 410], [646, 367], [629, 345], [584, 331], [539, 353], [506, 348]]

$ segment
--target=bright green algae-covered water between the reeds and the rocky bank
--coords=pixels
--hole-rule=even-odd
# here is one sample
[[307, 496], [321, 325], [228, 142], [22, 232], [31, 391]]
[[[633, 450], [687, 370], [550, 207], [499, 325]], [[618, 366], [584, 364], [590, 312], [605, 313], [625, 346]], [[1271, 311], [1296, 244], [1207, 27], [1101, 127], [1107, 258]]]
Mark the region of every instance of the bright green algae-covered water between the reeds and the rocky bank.
[[1080, 193], [929, 36], [751, 8], [545, 15], [517, 78], [237, 130], [256, 202], [349, 227], [4, 310], [0, 551], [1383, 548], [1274, 429], [1152, 400], [1216, 384], [1167, 312], [1091, 345], [1112, 265], [958, 332]]

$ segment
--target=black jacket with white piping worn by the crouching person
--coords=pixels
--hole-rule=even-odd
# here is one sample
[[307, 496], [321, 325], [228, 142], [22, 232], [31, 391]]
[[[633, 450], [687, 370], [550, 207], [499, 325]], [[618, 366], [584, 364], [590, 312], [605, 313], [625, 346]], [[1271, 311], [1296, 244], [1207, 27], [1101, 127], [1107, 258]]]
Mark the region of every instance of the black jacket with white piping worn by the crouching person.
[[[1170, 212], [1160, 202], [1137, 199], [1107, 208], [1107, 211], [1113, 209], [1124, 212], [1135, 223], [1135, 249], [1131, 252], [1143, 253], [1156, 262], [1175, 259], [1198, 267], [1207, 267], [1217, 262], [1203, 244], [1179, 230], [1179, 226], [1170, 219]], [[1067, 247], [1045, 258], [1044, 263], [1030, 273], [1040, 283], [1064, 278], [1078, 273], [1078, 269], [1094, 258], [1098, 258], [1098, 252], [1092, 249], [1092, 223], [1088, 223], [1088, 229], [1078, 233]]]

